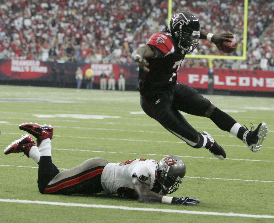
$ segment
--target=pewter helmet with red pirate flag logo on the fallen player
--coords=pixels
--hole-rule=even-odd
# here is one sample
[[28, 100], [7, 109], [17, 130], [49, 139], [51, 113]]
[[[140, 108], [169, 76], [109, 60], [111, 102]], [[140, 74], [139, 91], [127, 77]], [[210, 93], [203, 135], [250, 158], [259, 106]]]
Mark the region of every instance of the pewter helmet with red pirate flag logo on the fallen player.
[[164, 194], [171, 194], [183, 182], [186, 165], [177, 156], [166, 156], [158, 163], [157, 173], [157, 180]]

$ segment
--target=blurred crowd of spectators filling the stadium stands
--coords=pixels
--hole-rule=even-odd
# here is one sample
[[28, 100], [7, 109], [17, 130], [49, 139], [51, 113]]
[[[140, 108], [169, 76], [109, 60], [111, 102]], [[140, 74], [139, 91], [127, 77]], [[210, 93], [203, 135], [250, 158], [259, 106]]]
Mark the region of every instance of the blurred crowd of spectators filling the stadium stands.
[[[0, 59], [39, 59], [131, 65], [131, 53], [168, 24], [162, 0], [9, 0], [0, 1]], [[232, 32], [233, 54], [243, 51], [244, 0], [173, 0], [173, 12], [191, 11], [201, 29]], [[274, 71], [274, 1], [248, 1], [247, 61], [214, 60], [214, 67]], [[209, 41], [194, 54], [224, 55]], [[184, 66], [207, 67], [206, 59]]]

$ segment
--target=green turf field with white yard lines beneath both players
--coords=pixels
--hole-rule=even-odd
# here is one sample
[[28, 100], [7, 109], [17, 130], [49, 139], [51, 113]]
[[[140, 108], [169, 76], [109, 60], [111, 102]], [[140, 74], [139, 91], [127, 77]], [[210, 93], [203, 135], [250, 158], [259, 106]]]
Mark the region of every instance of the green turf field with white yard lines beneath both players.
[[[251, 152], [211, 120], [185, 114], [209, 132], [227, 158], [194, 149], [142, 112], [138, 92], [0, 86], [0, 222], [273, 222], [274, 99], [206, 95], [240, 124], [268, 125], [261, 151]], [[159, 161], [176, 155], [186, 176], [174, 196], [200, 199], [196, 206], [138, 203], [98, 194], [44, 195], [38, 165], [23, 154], [3, 154], [25, 132], [23, 122], [51, 124], [52, 158], [62, 170], [92, 157], [110, 162], [135, 158]]]

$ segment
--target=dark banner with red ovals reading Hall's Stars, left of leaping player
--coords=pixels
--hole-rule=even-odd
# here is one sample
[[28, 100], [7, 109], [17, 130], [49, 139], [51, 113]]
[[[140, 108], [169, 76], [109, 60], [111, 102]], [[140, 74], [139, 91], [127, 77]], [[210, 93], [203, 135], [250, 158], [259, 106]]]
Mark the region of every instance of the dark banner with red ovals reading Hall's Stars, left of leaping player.
[[[0, 60], [0, 80], [35, 80], [47, 82], [59, 82], [65, 79], [66, 83], [75, 82], [77, 67], [81, 67], [83, 75], [86, 69], [91, 68], [94, 75], [94, 83], [100, 83], [100, 75], [105, 73], [107, 78], [111, 72], [115, 74], [115, 81], [119, 79], [119, 73], [123, 72], [125, 78], [131, 84], [131, 76], [135, 77], [134, 85], [137, 85], [136, 75], [131, 75], [130, 66], [102, 63], [57, 63], [42, 62], [39, 60]], [[135, 67], [136, 69], [136, 67]], [[138, 75], [137, 75], [138, 77]]]

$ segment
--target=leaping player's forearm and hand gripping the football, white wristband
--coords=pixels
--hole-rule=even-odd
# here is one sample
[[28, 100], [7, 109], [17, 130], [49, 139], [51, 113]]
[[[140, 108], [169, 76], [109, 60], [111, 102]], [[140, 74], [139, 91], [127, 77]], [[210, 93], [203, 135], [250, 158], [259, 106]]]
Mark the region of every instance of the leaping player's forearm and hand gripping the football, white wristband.
[[224, 41], [232, 42], [231, 39], [228, 38], [233, 38], [233, 34], [230, 32], [225, 32], [225, 33], [219, 33], [219, 34], [213, 34], [213, 33], [207, 33], [206, 31], [200, 29], [200, 39], [207, 39], [218, 47], [219, 50], [222, 50], [221, 48], [221, 43]]

